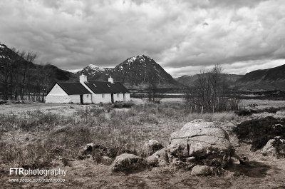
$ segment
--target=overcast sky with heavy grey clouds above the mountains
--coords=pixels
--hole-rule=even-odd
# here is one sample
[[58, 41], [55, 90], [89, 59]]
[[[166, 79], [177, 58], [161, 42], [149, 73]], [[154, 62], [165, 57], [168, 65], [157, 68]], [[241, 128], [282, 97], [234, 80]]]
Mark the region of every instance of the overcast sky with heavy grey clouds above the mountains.
[[1, 0], [0, 43], [75, 71], [153, 58], [172, 76], [285, 64], [284, 0]]

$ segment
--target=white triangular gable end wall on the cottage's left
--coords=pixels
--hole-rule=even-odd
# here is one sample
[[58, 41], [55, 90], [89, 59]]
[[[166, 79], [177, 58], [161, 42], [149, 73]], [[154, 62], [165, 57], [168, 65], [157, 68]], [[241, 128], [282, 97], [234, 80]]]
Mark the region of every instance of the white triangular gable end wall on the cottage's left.
[[56, 83], [46, 96], [46, 103], [71, 103], [71, 98], [69, 98], [68, 94]]

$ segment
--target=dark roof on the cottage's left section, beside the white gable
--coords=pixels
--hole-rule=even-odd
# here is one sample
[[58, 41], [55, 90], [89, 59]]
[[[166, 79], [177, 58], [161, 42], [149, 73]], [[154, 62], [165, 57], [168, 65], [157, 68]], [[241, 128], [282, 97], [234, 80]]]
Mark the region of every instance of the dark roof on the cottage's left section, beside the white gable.
[[[81, 83], [79, 83], [79, 82], [72, 82], [72, 83], [71, 82], [70, 83], [67, 83], [67, 82], [57, 82], [57, 83], [58, 83], [58, 86], [60, 86], [63, 89], [63, 91], [65, 91], [68, 95], [90, 94], [90, 91], [88, 91], [88, 89], [85, 86], [83, 86]], [[55, 85], [56, 85], [56, 83], [54, 84], [54, 86]], [[48, 91], [48, 93], [50, 91]]]

